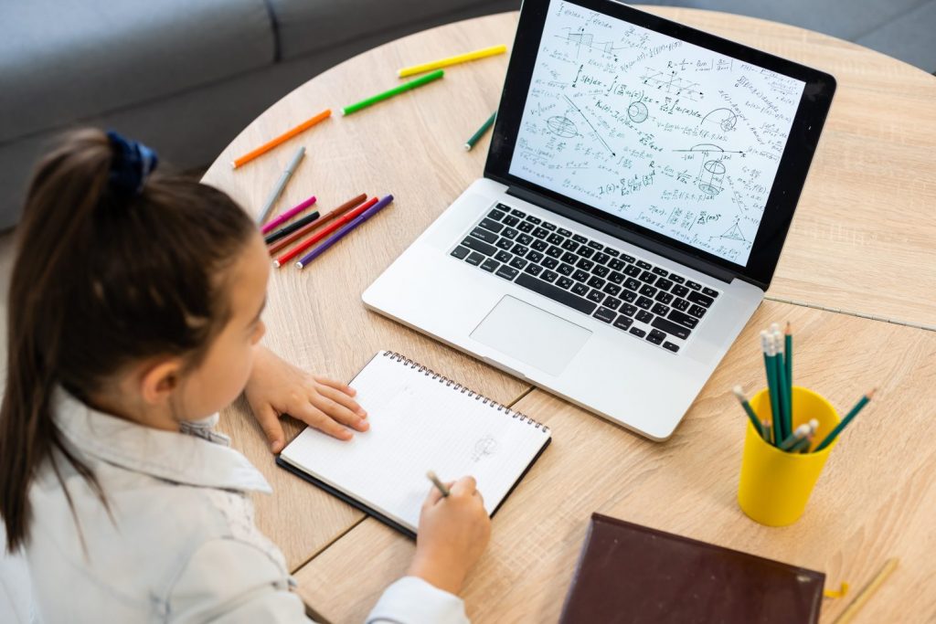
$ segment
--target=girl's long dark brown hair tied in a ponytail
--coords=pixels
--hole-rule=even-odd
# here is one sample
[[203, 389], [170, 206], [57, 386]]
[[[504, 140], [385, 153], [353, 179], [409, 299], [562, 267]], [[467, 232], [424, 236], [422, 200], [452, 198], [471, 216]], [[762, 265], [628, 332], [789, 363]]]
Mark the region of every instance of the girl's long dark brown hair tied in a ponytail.
[[62, 480], [55, 450], [106, 504], [52, 420], [56, 386], [87, 401], [142, 358], [197, 366], [230, 316], [219, 276], [256, 233], [230, 197], [197, 181], [154, 174], [139, 194], [122, 191], [109, 183], [114, 150], [99, 130], [67, 135], [39, 163], [18, 227], [0, 407], [10, 552], [28, 536], [40, 465], [51, 460]]

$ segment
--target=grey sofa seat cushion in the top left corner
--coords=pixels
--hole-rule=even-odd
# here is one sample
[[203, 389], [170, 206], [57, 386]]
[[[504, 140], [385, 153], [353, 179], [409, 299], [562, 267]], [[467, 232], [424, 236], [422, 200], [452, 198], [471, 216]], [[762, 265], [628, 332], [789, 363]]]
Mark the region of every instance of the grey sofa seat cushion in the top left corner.
[[2, 1], [0, 32], [0, 142], [269, 65], [275, 50], [264, 0]]

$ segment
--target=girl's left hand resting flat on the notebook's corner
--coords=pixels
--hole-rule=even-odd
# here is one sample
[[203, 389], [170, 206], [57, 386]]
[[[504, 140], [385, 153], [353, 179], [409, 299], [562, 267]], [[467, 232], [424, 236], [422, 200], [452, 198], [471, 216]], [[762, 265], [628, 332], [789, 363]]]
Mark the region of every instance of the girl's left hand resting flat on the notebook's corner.
[[348, 427], [368, 429], [367, 413], [352, 399], [356, 394], [353, 388], [300, 370], [266, 347], [257, 346], [256, 350], [254, 370], [243, 393], [273, 453], [279, 453], [285, 444], [279, 419], [282, 414], [339, 440], [352, 438]]

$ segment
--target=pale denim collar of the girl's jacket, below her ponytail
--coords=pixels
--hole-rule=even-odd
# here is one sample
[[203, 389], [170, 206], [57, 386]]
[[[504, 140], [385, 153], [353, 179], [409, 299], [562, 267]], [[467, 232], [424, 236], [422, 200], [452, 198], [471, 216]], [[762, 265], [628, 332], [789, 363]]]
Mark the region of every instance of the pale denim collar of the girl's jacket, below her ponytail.
[[58, 388], [53, 418], [82, 453], [133, 472], [187, 486], [272, 493], [263, 475], [227, 436], [212, 430], [218, 414], [164, 431], [91, 409]]

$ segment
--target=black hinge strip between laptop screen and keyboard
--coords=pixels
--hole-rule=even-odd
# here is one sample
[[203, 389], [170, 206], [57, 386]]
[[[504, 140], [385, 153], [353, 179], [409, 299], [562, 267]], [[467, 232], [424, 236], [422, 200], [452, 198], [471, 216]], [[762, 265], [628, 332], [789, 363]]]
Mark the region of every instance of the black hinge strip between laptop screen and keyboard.
[[[569, 208], [568, 206], [563, 205], [562, 202], [558, 202], [555, 199], [550, 199], [549, 197], [539, 195], [532, 191], [528, 191], [519, 186], [509, 186], [507, 188], [507, 195], [515, 196], [523, 201], [528, 201], [540, 208], [544, 208], [551, 212], [562, 215], [566, 219], [571, 219], [581, 225], [586, 225], [592, 227], [600, 232], [604, 232], [608, 236], [613, 236], [616, 239], [626, 240], [627, 242], [636, 245], [642, 249], [646, 249], [653, 254], [662, 255], [665, 258], [673, 260], [674, 262], [679, 262], [681, 265], [689, 268], [694, 268], [700, 273], [705, 273], [709, 277], [720, 280], [724, 283], [731, 283], [732, 280], [738, 278], [745, 282], [750, 282], [743, 275], [736, 271], [731, 271], [726, 268], [719, 267], [715, 264], [712, 264], [706, 260], [698, 258], [694, 255], [685, 254], [679, 250], [668, 247], [656, 240], [649, 239], [640, 234], [636, 234], [626, 228], [621, 227], [620, 225], [615, 225], [610, 222], [607, 222], [603, 219], [597, 219], [592, 217], [590, 214], [585, 214], [581, 210], [576, 210]], [[766, 290], [766, 286], [755, 283]]]

